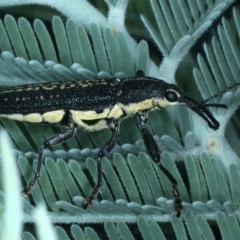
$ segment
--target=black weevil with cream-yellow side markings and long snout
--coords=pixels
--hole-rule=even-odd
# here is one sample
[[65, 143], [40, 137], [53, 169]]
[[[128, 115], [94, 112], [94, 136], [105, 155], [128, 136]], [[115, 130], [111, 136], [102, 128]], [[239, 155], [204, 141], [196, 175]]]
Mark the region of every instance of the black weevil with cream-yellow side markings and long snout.
[[84, 207], [87, 207], [102, 185], [101, 159], [116, 145], [120, 123], [128, 117], [136, 116], [151, 159], [171, 181], [175, 210], [179, 217], [182, 203], [177, 181], [161, 164], [160, 150], [146, 127], [151, 111], [178, 104], [186, 105], [197, 113], [211, 129], [219, 128], [219, 122], [208, 111], [207, 104], [189, 98], [174, 84], [144, 76], [142, 71], [138, 71], [136, 77], [132, 78], [31, 84], [0, 91], [0, 117], [67, 128], [43, 142], [34, 177], [23, 190], [23, 194], [30, 193], [40, 176], [45, 148], [64, 143], [78, 129], [98, 131], [110, 128], [112, 136], [98, 152], [97, 183], [84, 202]]

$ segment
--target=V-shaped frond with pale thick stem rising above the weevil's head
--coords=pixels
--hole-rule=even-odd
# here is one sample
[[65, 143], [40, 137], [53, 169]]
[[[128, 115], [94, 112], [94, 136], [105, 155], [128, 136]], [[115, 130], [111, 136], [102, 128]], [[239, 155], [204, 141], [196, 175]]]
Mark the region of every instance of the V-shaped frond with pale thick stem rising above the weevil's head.
[[183, 57], [232, 2], [150, 1], [158, 31], [144, 16], [141, 19], [164, 56], [159, 68], [161, 79], [175, 83], [175, 73]]

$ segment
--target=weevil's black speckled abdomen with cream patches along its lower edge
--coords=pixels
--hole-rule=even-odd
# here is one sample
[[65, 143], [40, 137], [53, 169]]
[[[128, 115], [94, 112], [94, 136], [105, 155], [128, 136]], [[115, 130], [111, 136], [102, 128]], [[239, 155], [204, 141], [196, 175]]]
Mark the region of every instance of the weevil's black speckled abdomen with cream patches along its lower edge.
[[59, 123], [70, 111], [102, 111], [117, 101], [119, 80], [23, 85], [0, 92], [0, 116]]

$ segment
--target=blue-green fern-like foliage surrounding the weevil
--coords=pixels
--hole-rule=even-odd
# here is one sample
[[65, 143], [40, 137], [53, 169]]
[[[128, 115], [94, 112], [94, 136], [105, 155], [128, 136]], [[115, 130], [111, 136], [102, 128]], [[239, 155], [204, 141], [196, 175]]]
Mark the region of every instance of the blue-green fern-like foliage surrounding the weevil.
[[[50, 30], [39, 19], [30, 23], [24, 17], [16, 19], [6, 15], [0, 22], [0, 86], [124, 78], [135, 76], [139, 69], [146, 75], [175, 83], [176, 70], [184, 57], [233, 2], [146, 1], [156, 26], [145, 15], [141, 20], [159, 54], [163, 54], [158, 66], [149, 56], [149, 43], [140, 39], [137, 43], [127, 31], [125, 19], [131, 14], [139, 17], [139, 13], [131, 10], [128, 14], [127, 0], [105, 0], [109, 8], [107, 17], [83, 0], [67, 5], [67, 1], [39, 1], [69, 18], [63, 21], [54, 16]], [[22, 0], [24, 3], [31, 1]], [[0, 3], [0, 6], [13, 5], [19, 5], [19, 1]], [[203, 99], [239, 82], [238, 7], [230, 9], [228, 20], [219, 21], [192, 65]], [[181, 80], [190, 85], [192, 78]], [[15, 154], [11, 157], [8, 141], [5, 143], [8, 138], [1, 136], [2, 239], [20, 239], [22, 225], [33, 222], [37, 235], [34, 231], [23, 231], [22, 239], [171, 239], [177, 236], [177, 239], [195, 240], [215, 239], [215, 232], [220, 232], [222, 239], [238, 239], [239, 157], [238, 151], [233, 151], [226, 142], [225, 130], [239, 106], [239, 97], [240, 90], [234, 89], [213, 100], [228, 106], [228, 109], [210, 109], [220, 122], [218, 131], [210, 130], [185, 107], [150, 114], [148, 128], [163, 152], [162, 163], [178, 182], [184, 207], [181, 218], [175, 216], [171, 183], [146, 153], [134, 118], [122, 123], [118, 145], [102, 160], [103, 186], [88, 209], [83, 209], [82, 203], [97, 180], [95, 159], [111, 132], [79, 131], [63, 146], [46, 150], [39, 182], [23, 198], [14, 162], [18, 163], [23, 187], [33, 177], [39, 146], [61, 129], [1, 119], [2, 128], [13, 141], [11, 148]], [[231, 134], [236, 135], [233, 130]]]

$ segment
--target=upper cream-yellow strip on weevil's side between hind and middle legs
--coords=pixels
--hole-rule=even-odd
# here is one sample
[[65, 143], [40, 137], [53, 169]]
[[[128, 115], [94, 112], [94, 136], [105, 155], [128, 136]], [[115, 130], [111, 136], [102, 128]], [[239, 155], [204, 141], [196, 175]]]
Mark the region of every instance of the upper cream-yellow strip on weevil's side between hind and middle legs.
[[107, 118], [110, 109], [104, 109], [103, 112], [97, 113], [96, 111], [76, 111], [76, 110], [70, 110], [72, 115], [77, 116], [78, 119], [82, 120], [95, 120], [95, 119], [102, 119]]

